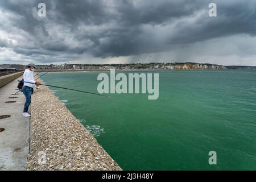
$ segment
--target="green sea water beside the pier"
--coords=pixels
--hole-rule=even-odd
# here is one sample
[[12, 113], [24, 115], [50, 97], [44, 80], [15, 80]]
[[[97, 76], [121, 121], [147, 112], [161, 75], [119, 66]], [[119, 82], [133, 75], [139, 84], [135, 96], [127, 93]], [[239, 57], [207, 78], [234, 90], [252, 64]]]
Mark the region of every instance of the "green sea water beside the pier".
[[[256, 169], [256, 71], [159, 73], [159, 98], [51, 88], [126, 170]], [[47, 84], [97, 92], [100, 72], [47, 73]], [[108, 73], [108, 72], [106, 72]], [[124, 72], [129, 73], [129, 72]], [[209, 151], [217, 152], [210, 165]]]

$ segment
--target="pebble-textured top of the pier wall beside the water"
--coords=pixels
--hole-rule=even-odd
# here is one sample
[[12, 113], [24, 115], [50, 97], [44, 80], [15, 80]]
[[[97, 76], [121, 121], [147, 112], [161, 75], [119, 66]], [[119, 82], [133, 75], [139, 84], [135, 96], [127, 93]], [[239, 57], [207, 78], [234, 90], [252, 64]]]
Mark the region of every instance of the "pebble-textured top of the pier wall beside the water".
[[122, 170], [49, 90], [32, 94], [27, 170]]

